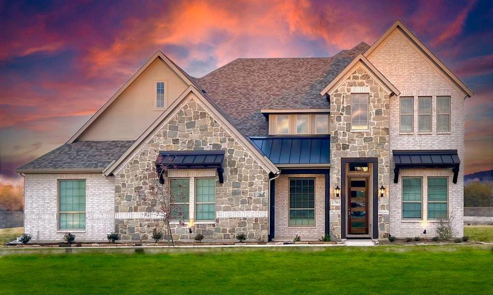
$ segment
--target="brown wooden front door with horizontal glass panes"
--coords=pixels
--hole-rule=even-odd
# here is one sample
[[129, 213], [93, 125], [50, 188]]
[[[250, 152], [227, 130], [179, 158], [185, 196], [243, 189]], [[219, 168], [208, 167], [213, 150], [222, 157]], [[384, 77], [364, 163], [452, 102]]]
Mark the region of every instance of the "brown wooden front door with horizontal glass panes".
[[369, 177], [348, 177], [348, 234], [369, 234]]

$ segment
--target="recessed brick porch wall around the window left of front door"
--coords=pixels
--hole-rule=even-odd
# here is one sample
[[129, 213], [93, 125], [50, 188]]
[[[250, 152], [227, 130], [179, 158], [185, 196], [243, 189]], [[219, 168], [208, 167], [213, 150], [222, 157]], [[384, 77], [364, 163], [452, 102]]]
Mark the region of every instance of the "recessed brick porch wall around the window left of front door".
[[[289, 227], [289, 178], [315, 178], [315, 226]], [[289, 174], [275, 179], [275, 232], [276, 241], [292, 241], [296, 235], [302, 240], [319, 239], [325, 234], [325, 175]]]

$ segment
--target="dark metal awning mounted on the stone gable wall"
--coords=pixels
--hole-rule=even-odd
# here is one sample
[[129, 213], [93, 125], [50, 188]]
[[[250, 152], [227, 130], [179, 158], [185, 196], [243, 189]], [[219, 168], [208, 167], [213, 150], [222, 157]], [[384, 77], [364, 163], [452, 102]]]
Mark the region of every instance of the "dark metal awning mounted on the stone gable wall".
[[[214, 151], [161, 151], [156, 163], [156, 171], [161, 175], [163, 167], [167, 169], [217, 169], [219, 183], [224, 183], [222, 161], [223, 150]], [[162, 178], [162, 177], [161, 177]], [[164, 182], [163, 179], [160, 179]]]

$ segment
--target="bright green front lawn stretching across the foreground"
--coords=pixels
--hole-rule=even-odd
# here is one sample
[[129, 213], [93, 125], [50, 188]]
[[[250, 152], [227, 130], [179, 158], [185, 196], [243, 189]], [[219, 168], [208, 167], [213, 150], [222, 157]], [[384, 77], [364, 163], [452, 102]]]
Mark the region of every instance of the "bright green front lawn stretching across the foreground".
[[0, 294], [493, 294], [491, 247], [4, 249]]

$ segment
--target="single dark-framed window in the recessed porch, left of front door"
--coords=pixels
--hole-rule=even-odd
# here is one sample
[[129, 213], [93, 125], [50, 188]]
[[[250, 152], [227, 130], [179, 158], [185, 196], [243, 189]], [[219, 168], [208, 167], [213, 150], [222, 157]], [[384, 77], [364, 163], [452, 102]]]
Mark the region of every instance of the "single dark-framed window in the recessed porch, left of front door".
[[289, 226], [315, 225], [315, 179], [289, 179]]

